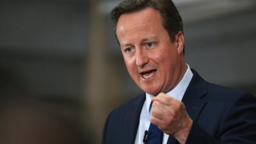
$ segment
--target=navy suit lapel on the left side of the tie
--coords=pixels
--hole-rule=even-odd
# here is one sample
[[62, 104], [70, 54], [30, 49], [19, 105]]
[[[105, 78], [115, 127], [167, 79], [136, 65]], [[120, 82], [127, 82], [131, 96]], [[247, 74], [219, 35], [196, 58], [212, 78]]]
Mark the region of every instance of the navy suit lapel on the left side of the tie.
[[140, 95], [137, 100], [132, 103], [130, 109], [125, 113], [124, 120], [124, 130], [125, 138], [124, 144], [134, 144], [138, 125], [140, 122], [140, 113], [145, 102], [145, 93]]

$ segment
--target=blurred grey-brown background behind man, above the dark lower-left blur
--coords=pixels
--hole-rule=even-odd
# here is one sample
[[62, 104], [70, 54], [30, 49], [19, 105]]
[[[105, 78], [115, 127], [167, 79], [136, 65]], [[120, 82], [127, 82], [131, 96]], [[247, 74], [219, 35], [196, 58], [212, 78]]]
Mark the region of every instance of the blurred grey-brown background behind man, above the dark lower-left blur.
[[[118, 3], [2, 0], [1, 99], [29, 95], [54, 106], [100, 143], [111, 109], [141, 93], [113, 35], [109, 12]], [[255, 95], [256, 1], [174, 3], [184, 20], [190, 67], [207, 81]]]

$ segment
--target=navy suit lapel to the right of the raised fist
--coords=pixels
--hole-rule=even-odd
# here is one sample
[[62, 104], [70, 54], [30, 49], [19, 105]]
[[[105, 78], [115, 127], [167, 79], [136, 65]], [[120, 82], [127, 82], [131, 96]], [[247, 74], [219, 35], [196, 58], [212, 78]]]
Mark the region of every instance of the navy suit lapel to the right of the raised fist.
[[[182, 102], [186, 106], [188, 115], [193, 122], [196, 122], [200, 111], [204, 108], [207, 101], [204, 99], [207, 95], [206, 82], [200, 77], [195, 70], [192, 69], [193, 77], [189, 83], [189, 86], [184, 93]], [[179, 143], [173, 136], [169, 136], [167, 144]]]

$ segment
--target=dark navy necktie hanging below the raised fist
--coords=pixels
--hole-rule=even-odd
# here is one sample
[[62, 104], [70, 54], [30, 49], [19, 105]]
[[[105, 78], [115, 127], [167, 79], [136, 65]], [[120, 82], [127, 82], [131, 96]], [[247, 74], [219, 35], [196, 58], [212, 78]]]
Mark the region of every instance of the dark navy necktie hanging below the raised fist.
[[[150, 103], [149, 112], [151, 110], [152, 102]], [[147, 144], [162, 144], [163, 132], [154, 124], [150, 123], [148, 128]]]

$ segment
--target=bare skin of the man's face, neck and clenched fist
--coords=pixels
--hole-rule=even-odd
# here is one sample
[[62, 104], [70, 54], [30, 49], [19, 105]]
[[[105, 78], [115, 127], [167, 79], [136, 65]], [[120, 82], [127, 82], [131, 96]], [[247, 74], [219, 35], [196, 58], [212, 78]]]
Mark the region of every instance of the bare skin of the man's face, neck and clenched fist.
[[152, 99], [151, 122], [185, 143], [193, 122], [184, 104], [165, 94], [186, 72], [183, 33], [179, 31], [172, 42], [160, 13], [145, 8], [121, 15], [116, 36], [133, 81], [144, 92], [156, 96]]

